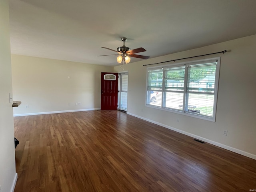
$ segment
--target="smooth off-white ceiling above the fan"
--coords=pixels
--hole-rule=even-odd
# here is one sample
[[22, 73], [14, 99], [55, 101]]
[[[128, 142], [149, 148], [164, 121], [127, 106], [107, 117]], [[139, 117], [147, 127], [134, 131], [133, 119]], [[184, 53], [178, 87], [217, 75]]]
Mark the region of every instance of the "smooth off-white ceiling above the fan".
[[[9, 0], [12, 54], [117, 66], [256, 34], [256, 0]], [[131, 58], [131, 62], [142, 59]]]

